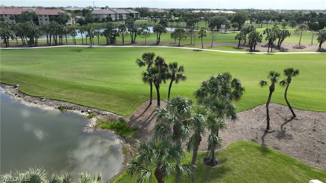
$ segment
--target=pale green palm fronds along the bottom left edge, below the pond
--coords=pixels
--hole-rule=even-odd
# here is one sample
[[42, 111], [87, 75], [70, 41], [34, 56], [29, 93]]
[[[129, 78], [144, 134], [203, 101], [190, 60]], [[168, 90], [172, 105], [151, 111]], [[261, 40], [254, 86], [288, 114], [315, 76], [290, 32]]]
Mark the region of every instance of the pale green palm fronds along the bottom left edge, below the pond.
[[89, 174], [87, 172], [79, 173], [79, 177], [74, 177], [70, 173], [64, 171], [62, 173], [53, 173], [47, 178], [47, 173], [43, 168], [29, 168], [25, 171], [14, 171], [1, 175], [1, 182], [5, 183], [101, 183], [101, 174]]

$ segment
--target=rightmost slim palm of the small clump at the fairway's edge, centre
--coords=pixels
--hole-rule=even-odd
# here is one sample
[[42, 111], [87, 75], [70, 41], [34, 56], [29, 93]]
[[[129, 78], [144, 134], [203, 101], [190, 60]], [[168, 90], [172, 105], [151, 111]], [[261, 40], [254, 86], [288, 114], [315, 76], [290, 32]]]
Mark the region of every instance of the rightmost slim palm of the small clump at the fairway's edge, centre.
[[178, 67], [177, 62], [170, 63], [168, 68], [170, 70], [168, 78], [171, 79], [170, 85], [169, 85], [169, 94], [168, 94], [168, 100], [170, 100], [170, 92], [171, 92], [171, 87], [172, 87], [173, 81], [175, 81], [175, 83], [177, 84], [177, 83], [179, 83], [179, 81], [186, 80], [187, 77], [182, 74], [184, 72], [184, 67], [183, 66]]

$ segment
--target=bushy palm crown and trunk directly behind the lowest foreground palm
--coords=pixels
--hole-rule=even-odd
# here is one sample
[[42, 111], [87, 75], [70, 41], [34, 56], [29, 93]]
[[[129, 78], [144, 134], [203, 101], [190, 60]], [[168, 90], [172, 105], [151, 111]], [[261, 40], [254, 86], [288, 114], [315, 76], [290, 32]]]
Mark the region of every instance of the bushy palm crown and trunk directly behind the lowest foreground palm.
[[[154, 126], [155, 137], [170, 140], [175, 145], [181, 145], [182, 140], [190, 133], [189, 123], [192, 119], [193, 101], [189, 98], [176, 96], [167, 101], [166, 109], [159, 107], [155, 111], [156, 125]], [[178, 158], [177, 164], [181, 159]], [[176, 173], [176, 182], [179, 174]]]

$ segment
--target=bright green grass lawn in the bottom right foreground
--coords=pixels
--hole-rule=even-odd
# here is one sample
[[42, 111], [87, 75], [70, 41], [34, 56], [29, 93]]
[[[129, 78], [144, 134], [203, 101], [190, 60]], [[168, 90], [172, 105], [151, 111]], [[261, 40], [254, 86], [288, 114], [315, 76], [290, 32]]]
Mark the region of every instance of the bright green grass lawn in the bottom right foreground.
[[[326, 182], [326, 170], [306, 165], [279, 150], [250, 141], [230, 143], [226, 148], [216, 151], [218, 166], [207, 167], [202, 160], [205, 152], [197, 159], [196, 182], [309, 182], [319, 179]], [[192, 154], [184, 159], [191, 164]], [[153, 177], [154, 178], [154, 177]], [[135, 182], [137, 175], [129, 177], [123, 173], [114, 182]], [[154, 178], [155, 180], [155, 178]], [[174, 182], [170, 177], [166, 182]], [[189, 182], [189, 179], [182, 182]]]

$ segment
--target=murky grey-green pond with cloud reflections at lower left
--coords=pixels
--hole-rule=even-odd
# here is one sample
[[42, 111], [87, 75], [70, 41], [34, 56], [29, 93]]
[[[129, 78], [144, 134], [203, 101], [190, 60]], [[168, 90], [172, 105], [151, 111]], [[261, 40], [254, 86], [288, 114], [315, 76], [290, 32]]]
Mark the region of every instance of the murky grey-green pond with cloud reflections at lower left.
[[24, 105], [3, 88], [0, 101], [1, 173], [29, 167], [43, 167], [49, 175], [101, 172], [105, 182], [119, 172], [122, 145], [114, 133], [83, 133], [85, 116]]

